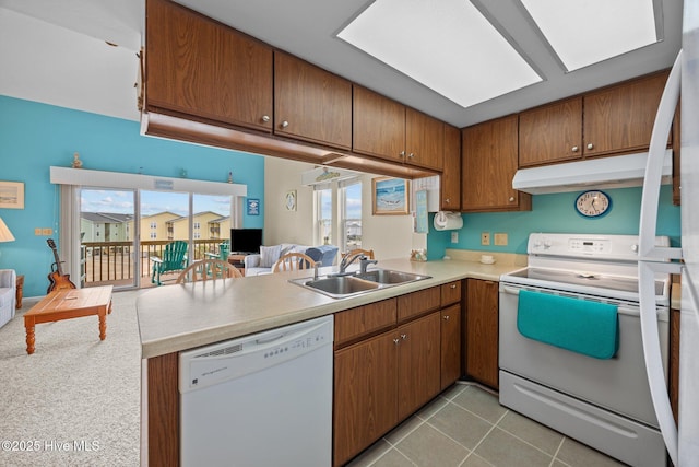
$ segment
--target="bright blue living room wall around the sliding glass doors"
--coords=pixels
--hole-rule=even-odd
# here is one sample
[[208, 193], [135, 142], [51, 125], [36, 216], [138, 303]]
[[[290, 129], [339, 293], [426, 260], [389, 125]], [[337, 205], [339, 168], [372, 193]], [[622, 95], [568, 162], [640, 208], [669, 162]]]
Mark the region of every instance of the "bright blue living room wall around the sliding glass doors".
[[[134, 103], [135, 105], [135, 103]], [[24, 183], [24, 209], [0, 209], [15, 242], [0, 244], [0, 268], [24, 275], [24, 295], [46, 293], [54, 255], [35, 227], [54, 229], [58, 241], [58, 188], [49, 183], [51, 165], [69, 167], [79, 152], [83, 167], [235, 183], [260, 199], [260, 215], [246, 227], [264, 222], [264, 157], [204, 148], [140, 135], [140, 124], [0, 95], [0, 180]]]

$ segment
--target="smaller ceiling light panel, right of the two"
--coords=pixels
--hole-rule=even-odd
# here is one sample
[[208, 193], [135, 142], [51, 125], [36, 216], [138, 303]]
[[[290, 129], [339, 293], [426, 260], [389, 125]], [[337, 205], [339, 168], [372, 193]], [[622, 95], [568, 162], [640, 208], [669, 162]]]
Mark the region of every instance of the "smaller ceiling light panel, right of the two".
[[653, 0], [521, 0], [568, 71], [657, 42]]

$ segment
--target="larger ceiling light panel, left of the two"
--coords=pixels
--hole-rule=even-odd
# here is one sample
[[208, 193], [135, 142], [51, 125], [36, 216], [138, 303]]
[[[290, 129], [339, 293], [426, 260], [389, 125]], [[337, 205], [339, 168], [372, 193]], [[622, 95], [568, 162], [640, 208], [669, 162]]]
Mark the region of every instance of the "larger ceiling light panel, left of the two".
[[376, 0], [337, 37], [462, 107], [542, 81], [466, 0]]

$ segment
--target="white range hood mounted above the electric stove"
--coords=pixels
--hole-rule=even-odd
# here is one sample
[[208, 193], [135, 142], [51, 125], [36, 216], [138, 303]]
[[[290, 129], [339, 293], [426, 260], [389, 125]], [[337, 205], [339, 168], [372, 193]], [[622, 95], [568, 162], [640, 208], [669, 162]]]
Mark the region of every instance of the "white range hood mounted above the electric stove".
[[[588, 188], [626, 188], [643, 185], [648, 153], [589, 159], [565, 164], [521, 168], [512, 188], [532, 195], [578, 191]], [[665, 151], [662, 183], [672, 183], [673, 152]]]

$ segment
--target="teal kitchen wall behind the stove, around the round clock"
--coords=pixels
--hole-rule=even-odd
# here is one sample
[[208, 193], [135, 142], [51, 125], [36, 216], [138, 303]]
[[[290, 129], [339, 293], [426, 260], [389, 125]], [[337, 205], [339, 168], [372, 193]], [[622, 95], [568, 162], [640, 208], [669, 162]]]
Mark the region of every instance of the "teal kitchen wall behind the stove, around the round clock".
[[[463, 227], [459, 231], [459, 243], [451, 243], [450, 231], [435, 231], [429, 220], [427, 258], [439, 259], [446, 248], [507, 252], [526, 254], [526, 241], [532, 232], [550, 233], [600, 233], [638, 235], [641, 188], [604, 190], [612, 198], [612, 210], [602, 218], [585, 219], [574, 209], [580, 191], [555, 195], [534, 195], [532, 210], [524, 212], [497, 212], [462, 214]], [[663, 186], [660, 196], [657, 234], [671, 237], [673, 246], [680, 242], [679, 207], [673, 206], [672, 186]], [[481, 245], [481, 232], [490, 232], [490, 245]], [[507, 233], [507, 246], [495, 246], [495, 233]]]

